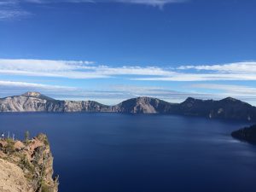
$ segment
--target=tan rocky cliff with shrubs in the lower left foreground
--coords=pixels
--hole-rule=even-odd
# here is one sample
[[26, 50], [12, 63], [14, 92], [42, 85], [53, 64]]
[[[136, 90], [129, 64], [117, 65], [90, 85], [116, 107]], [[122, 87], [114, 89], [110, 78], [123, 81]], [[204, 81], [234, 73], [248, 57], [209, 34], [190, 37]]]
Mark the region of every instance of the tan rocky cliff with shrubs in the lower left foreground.
[[0, 191], [57, 192], [53, 157], [44, 134], [26, 142], [0, 140]]

